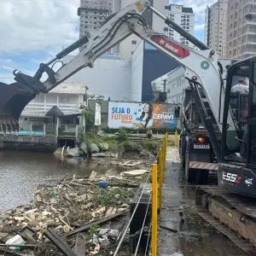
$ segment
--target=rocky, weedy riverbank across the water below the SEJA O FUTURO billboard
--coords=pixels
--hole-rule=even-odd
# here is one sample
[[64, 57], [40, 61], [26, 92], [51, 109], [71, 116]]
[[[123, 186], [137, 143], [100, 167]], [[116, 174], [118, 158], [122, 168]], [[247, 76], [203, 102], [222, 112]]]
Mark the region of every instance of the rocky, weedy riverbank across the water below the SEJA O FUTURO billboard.
[[59, 148], [55, 154], [67, 157], [90, 157], [92, 159], [151, 159], [153, 160], [160, 148], [161, 140], [158, 138], [129, 137], [125, 130], [109, 135], [102, 132], [87, 132], [84, 142], [75, 148]]

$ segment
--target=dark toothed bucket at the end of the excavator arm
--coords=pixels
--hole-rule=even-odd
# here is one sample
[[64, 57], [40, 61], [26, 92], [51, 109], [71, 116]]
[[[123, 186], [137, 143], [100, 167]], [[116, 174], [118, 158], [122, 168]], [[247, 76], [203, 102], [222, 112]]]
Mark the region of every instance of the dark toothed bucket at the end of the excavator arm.
[[33, 90], [24, 89], [18, 83], [0, 82], [0, 131], [19, 131], [20, 113], [37, 95]]

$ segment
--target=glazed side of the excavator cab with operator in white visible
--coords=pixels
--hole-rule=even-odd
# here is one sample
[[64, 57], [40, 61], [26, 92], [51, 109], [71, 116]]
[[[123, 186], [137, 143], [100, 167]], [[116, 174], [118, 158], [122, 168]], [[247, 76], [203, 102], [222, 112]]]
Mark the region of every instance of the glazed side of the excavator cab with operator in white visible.
[[[247, 131], [247, 119], [250, 106], [250, 71], [251, 61], [247, 60], [237, 61], [228, 70], [222, 132], [222, 141], [224, 142], [222, 144], [222, 157], [225, 161], [247, 162], [247, 153], [245, 153], [247, 149], [247, 145], [245, 146], [247, 137], [245, 138], [245, 131]], [[227, 122], [228, 113], [230, 113], [233, 119], [234, 126]]]

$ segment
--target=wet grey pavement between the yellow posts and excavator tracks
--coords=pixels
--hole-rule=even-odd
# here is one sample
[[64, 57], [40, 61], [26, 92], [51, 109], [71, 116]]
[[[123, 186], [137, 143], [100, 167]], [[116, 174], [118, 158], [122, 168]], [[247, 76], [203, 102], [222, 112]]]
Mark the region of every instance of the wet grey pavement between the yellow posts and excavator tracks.
[[[229, 239], [207, 224], [196, 213], [195, 185], [185, 182], [177, 149], [168, 148], [163, 195], [159, 218], [159, 254], [191, 256], [243, 256]], [[183, 214], [184, 223], [180, 214]], [[165, 230], [171, 228], [173, 231]]]

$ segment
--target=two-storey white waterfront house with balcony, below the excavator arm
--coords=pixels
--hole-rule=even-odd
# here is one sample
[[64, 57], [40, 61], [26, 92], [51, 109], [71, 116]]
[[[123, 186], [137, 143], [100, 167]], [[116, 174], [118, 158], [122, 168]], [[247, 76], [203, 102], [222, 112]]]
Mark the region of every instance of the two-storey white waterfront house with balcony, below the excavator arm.
[[[20, 115], [20, 134], [78, 136], [79, 107], [84, 104], [85, 84], [62, 83], [49, 93], [40, 93]], [[58, 107], [63, 113], [53, 119], [46, 113], [53, 107]]]

